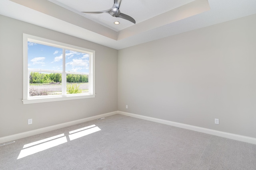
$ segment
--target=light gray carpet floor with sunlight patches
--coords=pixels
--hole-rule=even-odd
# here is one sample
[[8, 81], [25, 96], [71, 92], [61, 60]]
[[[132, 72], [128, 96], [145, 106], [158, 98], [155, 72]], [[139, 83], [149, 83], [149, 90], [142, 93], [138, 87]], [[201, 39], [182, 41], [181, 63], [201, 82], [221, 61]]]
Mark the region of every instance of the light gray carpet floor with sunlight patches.
[[0, 147], [1, 170], [256, 170], [256, 145], [112, 115]]

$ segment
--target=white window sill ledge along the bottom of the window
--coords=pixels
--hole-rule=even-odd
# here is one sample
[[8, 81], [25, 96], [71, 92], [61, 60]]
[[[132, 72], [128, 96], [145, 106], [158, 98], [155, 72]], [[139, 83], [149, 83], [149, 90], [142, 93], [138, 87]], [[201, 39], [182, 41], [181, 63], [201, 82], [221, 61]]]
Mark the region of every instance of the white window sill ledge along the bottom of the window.
[[86, 98], [95, 98], [95, 94], [90, 95], [80, 95], [80, 96], [58, 96], [52, 98], [30, 98], [22, 100], [23, 104], [34, 104], [34, 103], [43, 103], [43, 102], [57, 102], [63, 100], [76, 100], [76, 99], [86, 99]]

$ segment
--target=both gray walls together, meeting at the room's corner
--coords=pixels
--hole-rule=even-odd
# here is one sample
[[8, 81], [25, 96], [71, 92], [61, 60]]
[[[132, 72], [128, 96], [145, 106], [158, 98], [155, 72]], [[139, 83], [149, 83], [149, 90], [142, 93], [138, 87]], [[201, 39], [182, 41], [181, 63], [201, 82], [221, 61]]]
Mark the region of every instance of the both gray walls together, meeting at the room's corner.
[[[255, 20], [117, 51], [0, 16], [0, 137], [116, 110], [256, 137]], [[96, 97], [23, 105], [22, 33], [95, 50]]]

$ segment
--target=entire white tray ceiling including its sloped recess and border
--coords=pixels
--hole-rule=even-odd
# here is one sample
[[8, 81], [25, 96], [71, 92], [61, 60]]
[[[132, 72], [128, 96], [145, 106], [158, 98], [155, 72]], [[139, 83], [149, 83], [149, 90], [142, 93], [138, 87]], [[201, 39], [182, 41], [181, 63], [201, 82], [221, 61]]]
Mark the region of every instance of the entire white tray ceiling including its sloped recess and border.
[[[136, 24], [102, 11], [114, 0], [0, 0], [0, 14], [114, 49], [256, 14], [256, 0], [122, 0]], [[113, 22], [120, 21], [120, 25]]]

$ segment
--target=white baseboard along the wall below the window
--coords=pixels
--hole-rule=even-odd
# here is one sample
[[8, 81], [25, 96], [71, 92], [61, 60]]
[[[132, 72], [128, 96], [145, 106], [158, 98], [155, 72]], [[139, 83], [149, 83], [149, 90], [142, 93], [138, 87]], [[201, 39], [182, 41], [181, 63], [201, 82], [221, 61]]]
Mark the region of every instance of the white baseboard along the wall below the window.
[[75, 120], [75, 121], [61, 123], [61, 124], [58, 124], [58, 125], [48, 126], [48, 127], [44, 127], [44, 128], [40, 128], [40, 129], [36, 129], [36, 130], [32, 130], [32, 131], [18, 133], [18, 134], [15, 134], [15, 135], [1, 137], [0, 138], [0, 144], [1, 143], [6, 143], [6, 142], [9, 142], [9, 141], [14, 141], [14, 140], [17, 140], [17, 139], [22, 139], [24, 137], [29, 137], [29, 136], [32, 136], [32, 135], [38, 135], [40, 133], [53, 131], [53, 130], [60, 129], [60, 128], [63, 128], [63, 127], [68, 127], [68, 126], [76, 125], [76, 124], [79, 124], [79, 123], [84, 123], [86, 121], [99, 119], [101, 117], [107, 117], [107, 116], [115, 115], [115, 114], [117, 114], [117, 111], [104, 113], [104, 114], [96, 115], [96, 116], [92, 116], [92, 117], [86, 117], [84, 119], [79, 119], [79, 120]]

